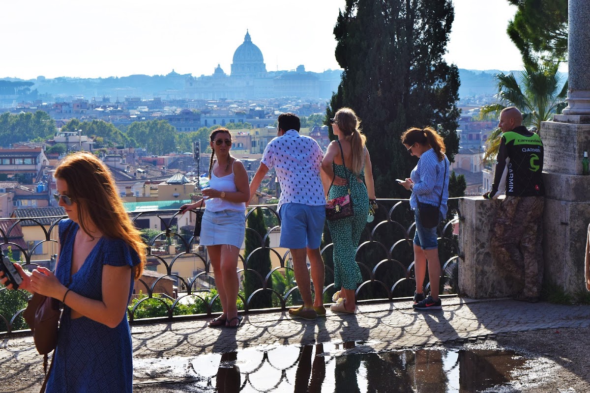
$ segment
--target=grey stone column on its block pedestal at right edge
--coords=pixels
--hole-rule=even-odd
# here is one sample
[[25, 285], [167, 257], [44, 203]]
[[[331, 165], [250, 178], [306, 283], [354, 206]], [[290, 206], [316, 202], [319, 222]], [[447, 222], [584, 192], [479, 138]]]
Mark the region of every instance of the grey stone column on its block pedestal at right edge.
[[585, 289], [584, 256], [590, 223], [590, 176], [582, 157], [590, 150], [590, 8], [569, 0], [568, 107], [541, 124], [545, 146], [545, 278], [568, 293]]

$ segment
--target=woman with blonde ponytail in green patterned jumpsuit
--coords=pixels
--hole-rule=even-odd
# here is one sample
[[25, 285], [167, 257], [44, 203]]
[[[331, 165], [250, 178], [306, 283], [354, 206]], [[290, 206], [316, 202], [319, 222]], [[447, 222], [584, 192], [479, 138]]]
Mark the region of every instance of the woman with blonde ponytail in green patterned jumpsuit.
[[328, 221], [334, 243], [334, 286], [340, 288], [334, 296], [332, 311], [355, 312], [355, 291], [362, 282], [356, 264], [356, 247], [365, 228], [369, 213], [369, 200], [375, 203], [375, 186], [371, 156], [365, 146], [365, 136], [360, 133], [360, 120], [350, 108], [341, 108], [330, 119], [337, 141], [332, 141], [322, 160], [327, 181], [328, 199], [346, 195], [350, 190], [354, 215], [345, 219]]

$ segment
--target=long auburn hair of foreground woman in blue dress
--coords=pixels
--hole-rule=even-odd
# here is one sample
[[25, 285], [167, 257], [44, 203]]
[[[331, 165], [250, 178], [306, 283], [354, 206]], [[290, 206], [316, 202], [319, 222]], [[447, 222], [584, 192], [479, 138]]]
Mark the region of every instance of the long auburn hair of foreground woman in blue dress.
[[54, 176], [67, 183], [68, 196], [76, 202], [84, 232], [91, 236], [87, 227], [90, 219], [104, 236], [121, 239], [135, 250], [141, 262], [133, 267], [133, 276], [140, 278], [146, 262], [146, 245], [125, 212], [109, 168], [94, 154], [73, 153], [61, 161]]

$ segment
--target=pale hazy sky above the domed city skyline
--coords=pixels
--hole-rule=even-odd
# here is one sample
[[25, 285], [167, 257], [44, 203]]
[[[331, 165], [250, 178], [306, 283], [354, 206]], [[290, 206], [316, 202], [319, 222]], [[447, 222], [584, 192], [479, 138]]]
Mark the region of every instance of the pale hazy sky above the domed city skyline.
[[[459, 68], [520, 70], [506, 36], [506, 0], [454, 0], [447, 60]], [[0, 77], [229, 74], [246, 29], [266, 68], [340, 68], [332, 29], [345, 0], [6, 1]]]

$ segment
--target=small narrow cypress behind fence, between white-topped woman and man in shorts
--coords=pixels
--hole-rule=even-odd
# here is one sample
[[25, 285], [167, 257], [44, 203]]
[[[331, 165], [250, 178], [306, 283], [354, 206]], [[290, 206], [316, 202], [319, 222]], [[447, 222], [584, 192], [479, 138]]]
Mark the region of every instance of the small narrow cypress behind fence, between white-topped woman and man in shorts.
[[[265, 243], [262, 242], [262, 239], [266, 236], [267, 227], [264, 224], [264, 214], [260, 207], [257, 207], [248, 215], [247, 224], [248, 229], [246, 229], [244, 248], [244, 256], [248, 258], [246, 261], [247, 267], [248, 269], [254, 270], [254, 272], [258, 272], [262, 280], [264, 280], [268, 272], [272, 269], [272, 266], [270, 262], [270, 250], [268, 248], [260, 248], [270, 246], [270, 239], [268, 237]], [[254, 272], [246, 270], [244, 273], [244, 294], [246, 299], [255, 290], [262, 288], [263, 285], [261, 279]], [[268, 280], [267, 288], [273, 288], [272, 280]], [[270, 290], [257, 293], [248, 304], [248, 308], [269, 308], [272, 306], [273, 298]]]

